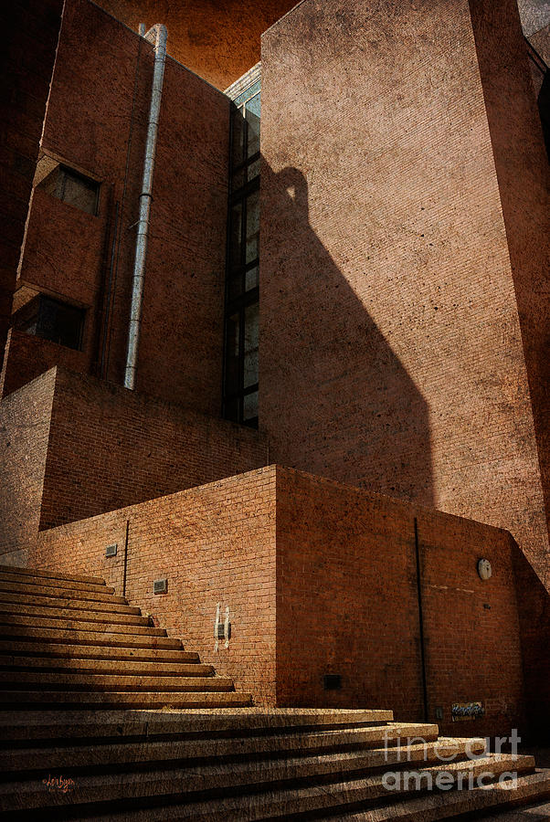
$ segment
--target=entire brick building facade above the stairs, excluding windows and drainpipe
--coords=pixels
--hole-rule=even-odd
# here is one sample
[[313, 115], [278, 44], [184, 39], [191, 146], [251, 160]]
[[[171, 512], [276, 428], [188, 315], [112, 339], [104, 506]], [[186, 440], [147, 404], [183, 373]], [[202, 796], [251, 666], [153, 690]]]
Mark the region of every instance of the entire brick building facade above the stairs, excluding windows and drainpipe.
[[550, 204], [513, 0], [302, 0], [264, 35], [259, 432], [221, 418], [231, 103], [173, 58], [122, 388], [153, 47], [88, 0], [40, 153], [100, 184], [97, 214], [35, 187], [15, 280], [56, 8], [5, 131], [0, 314], [16, 287], [86, 315], [81, 350], [21, 313], [6, 334], [4, 561], [105, 576], [262, 704], [542, 727]]

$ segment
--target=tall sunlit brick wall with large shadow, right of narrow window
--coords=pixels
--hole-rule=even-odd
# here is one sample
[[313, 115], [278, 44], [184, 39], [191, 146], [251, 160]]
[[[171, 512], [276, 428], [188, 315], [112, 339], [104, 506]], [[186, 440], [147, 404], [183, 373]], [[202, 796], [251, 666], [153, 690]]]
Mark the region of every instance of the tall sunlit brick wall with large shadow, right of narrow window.
[[485, 74], [466, 0], [305, 0], [264, 35], [260, 427], [282, 464], [510, 529], [550, 580]]

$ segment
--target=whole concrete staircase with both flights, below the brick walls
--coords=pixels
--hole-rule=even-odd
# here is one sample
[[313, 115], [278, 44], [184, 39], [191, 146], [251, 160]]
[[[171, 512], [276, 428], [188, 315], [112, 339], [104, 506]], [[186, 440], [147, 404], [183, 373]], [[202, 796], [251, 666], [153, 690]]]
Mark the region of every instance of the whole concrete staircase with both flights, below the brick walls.
[[0, 568], [0, 627], [6, 818], [428, 822], [550, 796], [533, 757], [391, 711], [249, 707], [101, 580]]

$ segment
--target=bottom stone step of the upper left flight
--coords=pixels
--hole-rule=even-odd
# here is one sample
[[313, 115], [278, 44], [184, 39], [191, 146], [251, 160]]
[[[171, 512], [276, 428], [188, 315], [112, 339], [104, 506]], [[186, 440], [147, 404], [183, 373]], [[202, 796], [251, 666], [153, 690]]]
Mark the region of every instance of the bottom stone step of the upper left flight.
[[249, 693], [237, 691], [87, 691], [87, 690], [3, 690], [0, 702], [4, 708], [47, 705], [64, 709], [69, 705], [87, 708], [230, 708], [250, 704]]

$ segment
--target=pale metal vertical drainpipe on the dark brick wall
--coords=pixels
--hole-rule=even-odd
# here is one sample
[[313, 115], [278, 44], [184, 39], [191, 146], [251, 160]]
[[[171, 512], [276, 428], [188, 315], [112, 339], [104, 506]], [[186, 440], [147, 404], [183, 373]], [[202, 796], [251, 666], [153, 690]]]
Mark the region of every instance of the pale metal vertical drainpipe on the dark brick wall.
[[[158, 121], [163, 97], [164, 63], [166, 60], [166, 26], [157, 23], [144, 37], [152, 39], [156, 33], [154, 44], [153, 86], [151, 90], [151, 107], [147, 125], [147, 142], [145, 144], [145, 159], [143, 161], [143, 182], [140, 195], [140, 216], [137, 224], [137, 238], [135, 242], [135, 261], [132, 278], [132, 307], [130, 310], [130, 325], [128, 328], [128, 351], [126, 354], [126, 370], [124, 372], [124, 387], [135, 388], [137, 370], [137, 355], [140, 342], [140, 326], [142, 322], [143, 281], [145, 279], [145, 259], [147, 257], [147, 237], [149, 233], [149, 216], [153, 199], [153, 171], [154, 154], [156, 151], [156, 137]], [[140, 34], [142, 28], [140, 26]]]

